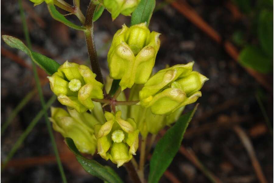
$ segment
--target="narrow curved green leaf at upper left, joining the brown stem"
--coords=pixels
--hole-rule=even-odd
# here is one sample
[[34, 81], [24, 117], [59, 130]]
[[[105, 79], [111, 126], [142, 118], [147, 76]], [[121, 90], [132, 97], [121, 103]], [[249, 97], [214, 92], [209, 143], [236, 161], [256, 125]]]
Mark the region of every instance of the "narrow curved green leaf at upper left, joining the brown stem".
[[65, 18], [64, 15], [62, 15], [61, 13], [59, 13], [55, 6], [53, 4], [48, 4], [47, 5], [47, 8], [48, 8], [48, 11], [49, 13], [51, 14], [52, 18], [54, 20], [57, 20], [59, 22], [62, 22], [64, 23], [66, 26], [68, 27], [71, 27], [73, 29], [76, 29], [76, 30], [83, 30], [83, 31], [86, 31], [86, 27], [82, 27], [82, 26], [79, 26], [79, 25], [75, 25], [74, 23], [70, 22], [68, 19]]

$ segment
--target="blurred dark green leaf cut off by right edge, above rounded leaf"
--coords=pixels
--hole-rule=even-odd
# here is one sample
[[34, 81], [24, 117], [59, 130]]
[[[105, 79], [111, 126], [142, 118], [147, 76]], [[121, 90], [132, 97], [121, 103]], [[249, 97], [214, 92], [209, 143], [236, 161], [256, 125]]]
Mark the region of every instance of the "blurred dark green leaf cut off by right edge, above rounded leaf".
[[258, 22], [258, 38], [263, 51], [273, 57], [273, 12], [262, 10]]

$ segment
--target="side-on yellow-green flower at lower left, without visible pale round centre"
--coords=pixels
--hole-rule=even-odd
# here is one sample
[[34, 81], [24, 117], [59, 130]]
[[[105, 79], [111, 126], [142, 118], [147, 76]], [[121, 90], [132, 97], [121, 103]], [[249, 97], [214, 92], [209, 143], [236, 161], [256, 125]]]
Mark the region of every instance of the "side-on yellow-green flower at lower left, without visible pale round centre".
[[[68, 113], [69, 112], [69, 113]], [[76, 110], [51, 107], [53, 129], [60, 132], [63, 137], [72, 138], [77, 149], [83, 153], [94, 154], [97, 140], [93, 134], [94, 125], [99, 122], [89, 113], [78, 113]]]

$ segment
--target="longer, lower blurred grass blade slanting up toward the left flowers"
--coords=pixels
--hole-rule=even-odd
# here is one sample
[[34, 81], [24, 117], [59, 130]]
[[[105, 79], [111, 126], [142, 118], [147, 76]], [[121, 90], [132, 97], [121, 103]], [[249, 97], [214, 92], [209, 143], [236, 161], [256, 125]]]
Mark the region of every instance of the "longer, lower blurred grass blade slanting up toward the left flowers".
[[[56, 96], [53, 95], [46, 104], [46, 109], [48, 109], [53, 102], [56, 100]], [[40, 112], [33, 118], [33, 120], [30, 122], [29, 126], [26, 128], [26, 130], [22, 133], [22, 135], [19, 137], [19, 139], [15, 142], [13, 145], [11, 151], [7, 155], [7, 158], [5, 159], [4, 163], [2, 164], [1, 171], [4, 170], [5, 166], [11, 160], [15, 152], [18, 150], [22, 142], [24, 142], [25, 138], [29, 135], [29, 133], [32, 131], [33, 127], [37, 124], [37, 122], [41, 119], [41, 117], [44, 115], [44, 110], [40, 110]]]

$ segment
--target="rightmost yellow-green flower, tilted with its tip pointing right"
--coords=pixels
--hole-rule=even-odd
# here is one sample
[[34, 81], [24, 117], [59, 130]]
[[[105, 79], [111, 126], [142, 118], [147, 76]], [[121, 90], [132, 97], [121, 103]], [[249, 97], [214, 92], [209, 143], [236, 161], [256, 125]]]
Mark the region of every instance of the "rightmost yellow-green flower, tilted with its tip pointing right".
[[139, 92], [142, 106], [150, 107], [153, 114], [163, 115], [196, 102], [208, 78], [192, 71], [193, 64], [175, 65], [157, 72]]

